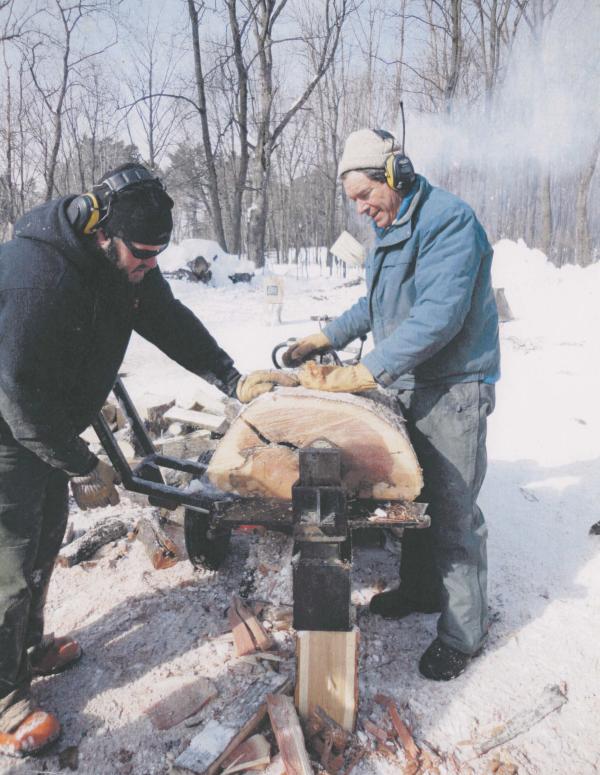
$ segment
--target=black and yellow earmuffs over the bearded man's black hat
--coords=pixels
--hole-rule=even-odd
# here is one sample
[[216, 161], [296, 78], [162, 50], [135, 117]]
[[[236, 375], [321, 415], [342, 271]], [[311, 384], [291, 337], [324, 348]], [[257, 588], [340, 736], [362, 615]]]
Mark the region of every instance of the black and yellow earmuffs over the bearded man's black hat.
[[67, 208], [67, 217], [75, 231], [93, 234], [107, 220], [110, 207], [118, 194], [132, 186], [152, 183], [164, 190], [160, 178], [141, 164], [115, 172], [85, 194], [75, 197]]

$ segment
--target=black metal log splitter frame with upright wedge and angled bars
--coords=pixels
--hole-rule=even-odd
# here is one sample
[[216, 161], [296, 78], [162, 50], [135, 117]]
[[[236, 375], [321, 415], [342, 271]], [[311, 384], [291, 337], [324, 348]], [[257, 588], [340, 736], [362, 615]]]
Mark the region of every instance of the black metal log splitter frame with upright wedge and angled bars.
[[429, 527], [427, 504], [414, 502], [394, 503], [394, 510], [402, 512], [401, 521], [374, 523], [373, 513], [381, 508], [381, 503], [347, 499], [341, 484], [341, 452], [325, 440], [317, 440], [311, 447], [299, 450], [300, 476], [292, 487], [291, 505], [272, 498], [242, 498], [209, 488], [189, 492], [168, 485], [161, 468], [200, 477], [206, 471], [206, 464], [158, 453], [120, 378], [115, 382], [113, 393], [130, 422], [136, 446], [144, 458], [131, 468], [102, 413], [93, 423], [94, 430], [125, 489], [148, 496], [152, 505], [170, 509], [186, 507], [186, 546], [192, 563], [196, 564], [195, 557], [204, 557], [200, 564], [217, 568], [227, 551], [227, 543], [213, 546], [211, 542], [240, 525], [261, 525], [294, 537], [299, 552], [294, 566], [296, 629], [349, 629], [353, 530]]

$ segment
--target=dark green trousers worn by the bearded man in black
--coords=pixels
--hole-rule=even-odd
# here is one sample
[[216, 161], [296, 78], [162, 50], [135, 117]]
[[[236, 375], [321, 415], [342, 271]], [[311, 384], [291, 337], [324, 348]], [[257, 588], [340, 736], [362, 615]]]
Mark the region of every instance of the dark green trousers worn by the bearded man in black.
[[29, 681], [27, 649], [44, 632], [44, 604], [68, 515], [68, 477], [0, 436], [0, 698]]

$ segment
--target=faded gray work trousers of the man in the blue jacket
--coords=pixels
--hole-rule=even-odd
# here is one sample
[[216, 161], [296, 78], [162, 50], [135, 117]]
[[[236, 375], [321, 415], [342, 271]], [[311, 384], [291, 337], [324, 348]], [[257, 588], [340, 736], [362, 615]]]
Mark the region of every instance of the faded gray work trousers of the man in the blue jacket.
[[476, 501], [495, 389], [461, 382], [401, 390], [398, 400], [423, 469], [418, 500], [431, 516], [428, 530], [404, 533], [400, 588], [417, 604], [439, 606], [438, 637], [474, 654], [488, 630], [487, 528]]

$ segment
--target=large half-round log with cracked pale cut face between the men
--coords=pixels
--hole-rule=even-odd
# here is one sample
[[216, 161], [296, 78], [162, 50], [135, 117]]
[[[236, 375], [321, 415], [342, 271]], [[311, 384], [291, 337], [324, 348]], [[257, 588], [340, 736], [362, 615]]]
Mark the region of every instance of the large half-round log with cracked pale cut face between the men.
[[298, 449], [318, 439], [341, 449], [350, 497], [412, 501], [420, 493], [421, 469], [398, 414], [368, 398], [302, 388], [249, 404], [220, 441], [208, 477], [226, 492], [289, 500]]

